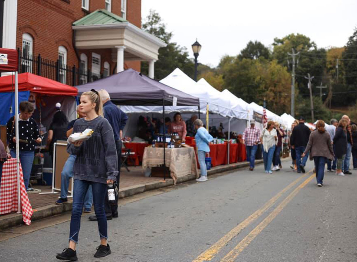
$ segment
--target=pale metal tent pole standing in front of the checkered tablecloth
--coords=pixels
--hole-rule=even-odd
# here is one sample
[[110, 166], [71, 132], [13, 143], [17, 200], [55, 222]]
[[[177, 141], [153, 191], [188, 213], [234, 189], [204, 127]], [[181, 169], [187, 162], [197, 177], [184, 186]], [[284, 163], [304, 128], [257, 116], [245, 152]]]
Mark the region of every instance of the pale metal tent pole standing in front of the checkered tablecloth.
[[20, 196], [20, 147], [19, 147], [19, 86], [15, 72], [15, 136], [16, 136], [16, 177], [17, 177], [17, 213], [21, 213]]

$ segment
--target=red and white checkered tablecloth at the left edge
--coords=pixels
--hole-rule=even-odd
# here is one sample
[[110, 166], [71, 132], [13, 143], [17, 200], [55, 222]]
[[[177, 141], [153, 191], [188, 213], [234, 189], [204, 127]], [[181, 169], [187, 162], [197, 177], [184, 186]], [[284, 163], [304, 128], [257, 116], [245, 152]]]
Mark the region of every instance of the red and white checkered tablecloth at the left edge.
[[[27, 196], [24, 176], [20, 164], [20, 200], [22, 209], [22, 220], [26, 225], [31, 224], [32, 210], [29, 197]], [[17, 178], [16, 158], [7, 160], [2, 166], [2, 177], [0, 185], [0, 215], [17, 211]]]

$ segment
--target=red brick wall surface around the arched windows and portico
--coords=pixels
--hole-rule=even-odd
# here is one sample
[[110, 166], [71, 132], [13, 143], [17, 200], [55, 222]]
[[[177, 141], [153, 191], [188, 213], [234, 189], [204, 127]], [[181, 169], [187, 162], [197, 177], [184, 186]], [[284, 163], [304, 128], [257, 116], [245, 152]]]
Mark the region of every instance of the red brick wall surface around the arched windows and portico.
[[[112, 0], [112, 13], [121, 16], [121, 1]], [[90, 12], [105, 7], [105, 0], [89, 0]], [[89, 14], [82, 10], [81, 0], [18, 0], [16, 46], [22, 48], [22, 34], [29, 33], [34, 39], [33, 54], [42, 58], [57, 60], [58, 47], [67, 49], [67, 65], [79, 66], [79, 61], [72, 44], [72, 23]], [[127, 0], [127, 20], [141, 27], [141, 0]], [[101, 55], [103, 63], [109, 62], [112, 72], [116, 63], [111, 61], [110, 49], [78, 50], [78, 55], [85, 53], [88, 68], [91, 68], [91, 53]], [[140, 61], [125, 61], [125, 68], [140, 71]]]

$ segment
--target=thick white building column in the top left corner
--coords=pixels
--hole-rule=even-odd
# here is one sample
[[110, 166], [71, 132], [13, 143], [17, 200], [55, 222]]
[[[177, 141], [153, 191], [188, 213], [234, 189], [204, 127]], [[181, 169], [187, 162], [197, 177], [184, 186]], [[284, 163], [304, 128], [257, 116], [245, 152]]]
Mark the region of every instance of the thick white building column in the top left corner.
[[2, 47], [16, 49], [17, 0], [4, 2], [2, 22]]

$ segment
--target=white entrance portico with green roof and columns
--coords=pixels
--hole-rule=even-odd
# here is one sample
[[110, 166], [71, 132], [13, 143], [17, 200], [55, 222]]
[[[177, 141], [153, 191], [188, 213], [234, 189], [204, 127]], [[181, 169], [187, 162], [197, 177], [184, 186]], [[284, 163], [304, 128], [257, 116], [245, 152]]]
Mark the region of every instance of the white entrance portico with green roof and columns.
[[124, 71], [124, 60], [148, 61], [149, 77], [154, 78], [159, 48], [166, 47], [161, 39], [105, 9], [75, 21], [72, 29], [77, 49], [111, 48], [117, 73]]

